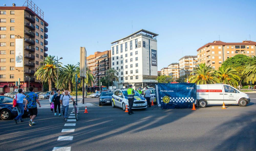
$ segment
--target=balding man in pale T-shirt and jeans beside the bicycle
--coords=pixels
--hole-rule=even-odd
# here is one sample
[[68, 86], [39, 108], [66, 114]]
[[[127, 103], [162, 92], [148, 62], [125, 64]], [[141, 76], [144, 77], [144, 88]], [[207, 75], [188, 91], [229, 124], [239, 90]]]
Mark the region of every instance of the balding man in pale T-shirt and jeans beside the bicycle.
[[75, 102], [74, 99], [72, 98], [72, 96], [68, 94], [67, 90], [65, 91], [65, 94], [61, 95], [61, 97], [60, 97], [60, 104], [62, 105], [61, 110], [62, 110], [65, 121], [67, 121], [67, 117], [68, 117], [68, 107], [69, 107], [69, 99], [70, 98], [73, 102]]

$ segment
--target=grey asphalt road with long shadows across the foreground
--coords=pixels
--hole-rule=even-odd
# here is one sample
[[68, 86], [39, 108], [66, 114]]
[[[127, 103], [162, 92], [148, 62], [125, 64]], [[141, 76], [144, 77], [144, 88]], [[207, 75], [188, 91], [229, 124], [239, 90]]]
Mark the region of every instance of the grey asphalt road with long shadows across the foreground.
[[[0, 121], [1, 150], [256, 150], [256, 93], [249, 94], [251, 103], [208, 106], [191, 109], [135, 110], [127, 115], [121, 108], [97, 106], [98, 99], [86, 99], [96, 105], [79, 107], [79, 120], [65, 122], [50, 109], [38, 109], [36, 125], [29, 118], [15, 124]], [[69, 108], [69, 113], [72, 107]], [[72, 119], [72, 118], [69, 118]], [[64, 126], [74, 123], [75, 126]], [[61, 132], [74, 129], [74, 132]], [[65, 131], [65, 130], [64, 130]], [[69, 141], [57, 141], [59, 136], [73, 136]], [[70, 137], [69, 137], [70, 138]], [[69, 150], [65, 148], [64, 150]]]

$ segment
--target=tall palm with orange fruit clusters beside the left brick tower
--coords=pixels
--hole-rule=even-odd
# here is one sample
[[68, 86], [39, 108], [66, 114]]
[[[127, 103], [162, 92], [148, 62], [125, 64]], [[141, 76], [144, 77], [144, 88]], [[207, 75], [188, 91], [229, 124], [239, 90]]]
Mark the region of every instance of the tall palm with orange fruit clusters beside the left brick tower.
[[[48, 82], [49, 91], [52, 90], [54, 81], [57, 78], [57, 61], [54, 59], [55, 56], [46, 56], [44, 61], [41, 61], [43, 65], [37, 68], [35, 76], [37, 80], [40, 80], [42, 83]], [[59, 62], [59, 67], [61, 62]]]

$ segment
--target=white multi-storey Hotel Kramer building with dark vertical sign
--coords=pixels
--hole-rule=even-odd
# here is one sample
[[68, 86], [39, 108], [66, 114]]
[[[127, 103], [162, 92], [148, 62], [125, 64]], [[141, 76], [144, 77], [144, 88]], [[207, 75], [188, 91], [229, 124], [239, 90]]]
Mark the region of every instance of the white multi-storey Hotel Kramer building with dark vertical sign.
[[112, 42], [111, 68], [120, 69], [116, 88], [133, 88], [157, 84], [157, 40], [158, 34], [141, 29], [127, 37]]

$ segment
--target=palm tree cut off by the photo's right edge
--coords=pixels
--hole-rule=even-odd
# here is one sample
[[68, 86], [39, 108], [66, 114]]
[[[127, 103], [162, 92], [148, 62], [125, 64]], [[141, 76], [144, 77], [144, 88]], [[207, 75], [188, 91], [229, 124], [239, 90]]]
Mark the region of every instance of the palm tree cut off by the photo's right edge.
[[252, 56], [249, 59], [250, 59], [249, 60], [250, 63], [245, 67], [242, 74], [247, 75], [247, 78], [246, 78], [247, 83], [251, 81], [252, 84], [254, 84], [256, 82], [256, 57]]

